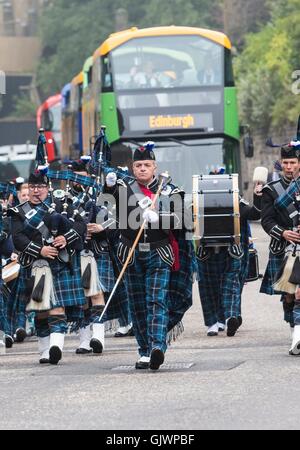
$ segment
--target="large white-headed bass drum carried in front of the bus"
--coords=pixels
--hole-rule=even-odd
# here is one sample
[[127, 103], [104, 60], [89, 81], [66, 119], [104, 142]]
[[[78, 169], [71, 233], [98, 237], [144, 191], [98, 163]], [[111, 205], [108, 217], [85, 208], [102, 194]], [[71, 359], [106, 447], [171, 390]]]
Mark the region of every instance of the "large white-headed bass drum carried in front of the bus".
[[198, 245], [240, 244], [238, 175], [194, 175], [193, 218]]

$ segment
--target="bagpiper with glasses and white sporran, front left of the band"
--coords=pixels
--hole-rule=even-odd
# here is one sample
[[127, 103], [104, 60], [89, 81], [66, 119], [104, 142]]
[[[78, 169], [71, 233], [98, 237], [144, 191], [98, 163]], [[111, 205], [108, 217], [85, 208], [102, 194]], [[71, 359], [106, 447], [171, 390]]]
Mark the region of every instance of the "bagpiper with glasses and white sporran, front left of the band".
[[27, 303], [27, 312], [36, 312], [40, 363], [57, 364], [67, 322], [75, 325], [83, 317], [80, 251], [86, 225], [71, 204], [63, 211], [62, 203], [56, 202], [53, 210], [48, 192], [44, 174], [30, 175], [29, 201], [11, 208], [9, 215], [22, 266], [16, 297]]

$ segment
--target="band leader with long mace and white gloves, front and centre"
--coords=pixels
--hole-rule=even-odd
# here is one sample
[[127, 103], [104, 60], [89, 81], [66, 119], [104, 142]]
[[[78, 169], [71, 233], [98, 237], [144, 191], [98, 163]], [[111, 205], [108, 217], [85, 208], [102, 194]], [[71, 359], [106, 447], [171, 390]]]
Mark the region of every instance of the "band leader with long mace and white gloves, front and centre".
[[[141, 224], [147, 223], [129, 261], [125, 282], [139, 347], [136, 369], [158, 370], [164, 362], [168, 332], [191, 305], [192, 274], [189, 270], [187, 276], [183, 273], [180, 279], [172, 280], [172, 269], [178, 270], [180, 250], [171, 230], [182, 229], [184, 192], [168, 183], [161, 193], [158, 209], [150, 207], [159, 187], [153, 147], [153, 143], [147, 143], [135, 151], [133, 180], [125, 182], [117, 180], [115, 173], [108, 174], [106, 192], [115, 196], [119, 210], [118, 258], [122, 265], [128, 261]], [[122, 206], [126, 207], [125, 211]], [[182, 271], [187, 266], [186, 263]], [[181, 304], [174, 301], [176, 288], [178, 303], [183, 297], [180, 294], [183, 291], [187, 294]]]

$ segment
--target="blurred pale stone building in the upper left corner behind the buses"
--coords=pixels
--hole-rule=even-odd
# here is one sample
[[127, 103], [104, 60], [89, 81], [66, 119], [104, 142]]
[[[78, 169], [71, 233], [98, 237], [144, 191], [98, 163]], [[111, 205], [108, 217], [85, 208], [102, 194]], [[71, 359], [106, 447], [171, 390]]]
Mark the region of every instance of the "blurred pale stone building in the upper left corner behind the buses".
[[[35, 89], [41, 54], [38, 19], [47, 3], [47, 0], [0, 0], [0, 71], [5, 74], [6, 87], [5, 95], [0, 95], [0, 146], [35, 138], [33, 118], [16, 120], [14, 105], [16, 98], [24, 94], [39, 103]], [[15, 142], [9, 142], [11, 136]]]

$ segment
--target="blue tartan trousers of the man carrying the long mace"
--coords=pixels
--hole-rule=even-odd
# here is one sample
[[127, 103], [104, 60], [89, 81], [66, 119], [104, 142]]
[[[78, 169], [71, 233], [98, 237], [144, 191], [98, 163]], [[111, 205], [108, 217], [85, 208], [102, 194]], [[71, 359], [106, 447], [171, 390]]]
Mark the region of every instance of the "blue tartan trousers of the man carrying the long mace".
[[156, 250], [135, 251], [134, 262], [126, 271], [126, 283], [140, 356], [150, 356], [153, 348], [167, 350], [170, 276], [171, 267]]

